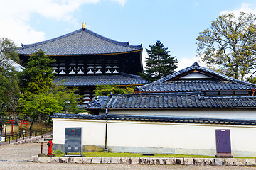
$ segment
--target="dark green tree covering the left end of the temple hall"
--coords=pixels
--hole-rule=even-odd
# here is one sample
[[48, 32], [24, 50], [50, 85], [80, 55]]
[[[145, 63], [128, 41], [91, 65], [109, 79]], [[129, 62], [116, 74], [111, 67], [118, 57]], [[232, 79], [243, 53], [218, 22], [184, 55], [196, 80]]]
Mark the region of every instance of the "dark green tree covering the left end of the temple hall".
[[55, 78], [53, 68], [50, 67], [52, 62], [55, 62], [55, 59], [45, 55], [43, 50], [33, 53], [20, 75], [21, 91], [36, 94], [49, 89]]

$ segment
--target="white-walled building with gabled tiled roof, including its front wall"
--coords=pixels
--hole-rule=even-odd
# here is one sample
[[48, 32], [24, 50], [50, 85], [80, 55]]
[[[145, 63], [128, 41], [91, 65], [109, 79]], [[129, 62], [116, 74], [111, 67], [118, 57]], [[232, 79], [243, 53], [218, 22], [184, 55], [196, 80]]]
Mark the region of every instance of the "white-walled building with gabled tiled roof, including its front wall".
[[137, 94], [97, 98], [95, 115], [54, 114], [53, 148], [65, 150], [69, 128], [85, 151], [256, 157], [255, 89], [195, 63]]

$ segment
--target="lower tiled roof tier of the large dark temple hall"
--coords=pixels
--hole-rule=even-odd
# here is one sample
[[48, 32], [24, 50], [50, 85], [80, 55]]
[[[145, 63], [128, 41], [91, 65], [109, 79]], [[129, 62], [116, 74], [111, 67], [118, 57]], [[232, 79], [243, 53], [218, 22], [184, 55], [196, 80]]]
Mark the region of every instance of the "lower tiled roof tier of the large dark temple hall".
[[53, 83], [60, 83], [65, 79], [66, 86], [96, 86], [102, 84], [118, 84], [118, 85], [132, 85], [132, 84], [146, 84], [147, 81], [137, 75], [132, 74], [116, 74], [116, 75], [84, 75], [84, 76], [61, 76], [58, 75]]

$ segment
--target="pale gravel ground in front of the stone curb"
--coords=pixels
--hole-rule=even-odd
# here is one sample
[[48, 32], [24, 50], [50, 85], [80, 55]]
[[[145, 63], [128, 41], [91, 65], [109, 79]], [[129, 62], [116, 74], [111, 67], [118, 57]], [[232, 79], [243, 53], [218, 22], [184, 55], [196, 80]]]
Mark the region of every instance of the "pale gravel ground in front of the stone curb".
[[[255, 167], [238, 166], [174, 166], [174, 165], [132, 165], [132, 164], [42, 164], [31, 162], [31, 156], [41, 152], [40, 143], [0, 146], [0, 169], [256, 169]], [[48, 146], [43, 144], [43, 153]]]

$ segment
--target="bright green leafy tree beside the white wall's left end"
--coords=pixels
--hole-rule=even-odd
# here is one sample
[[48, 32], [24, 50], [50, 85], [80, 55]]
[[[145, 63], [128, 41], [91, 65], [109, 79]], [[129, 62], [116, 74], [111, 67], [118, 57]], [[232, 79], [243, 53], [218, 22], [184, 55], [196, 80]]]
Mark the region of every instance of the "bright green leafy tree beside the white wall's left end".
[[24, 98], [21, 98], [22, 117], [31, 118], [32, 123], [38, 120], [46, 121], [49, 115], [60, 113], [65, 108], [69, 113], [79, 113], [85, 111], [78, 106], [82, 96], [75, 94], [76, 89], [68, 89], [61, 82], [58, 85], [53, 85], [46, 91], [39, 93], [27, 93]]

